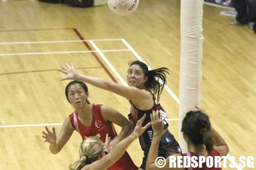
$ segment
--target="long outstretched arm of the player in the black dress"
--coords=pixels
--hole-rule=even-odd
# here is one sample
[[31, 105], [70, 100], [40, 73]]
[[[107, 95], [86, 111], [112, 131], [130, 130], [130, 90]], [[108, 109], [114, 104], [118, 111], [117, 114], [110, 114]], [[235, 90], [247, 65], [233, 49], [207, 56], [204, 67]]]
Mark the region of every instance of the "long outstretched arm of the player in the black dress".
[[99, 87], [101, 89], [108, 90], [115, 94], [121, 95], [122, 97], [125, 97], [128, 100], [133, 100], [133, 101], [138, 101], [143, 98], [150, 97], [150, 95], [148, 95], [148, 92], [146, 90], [140, 90], [137, 87], [126, 87], [121, 84], [105, 80], [103, 78], [90, 77], [88, 75], [81, 75], [76, 72], [76, 69], [74, 69], [74, 66], [72, 63], [71, 63], [71, 66], [66, 64], [66, 67], [63, 65], [60, 65], [60, 67], [62, 67], [62, 69], [58, 69], [58, 70], [66, 74], [66, 77], [62, 78], [61, 81], [63, 80], [83, 81], [95, 87]]

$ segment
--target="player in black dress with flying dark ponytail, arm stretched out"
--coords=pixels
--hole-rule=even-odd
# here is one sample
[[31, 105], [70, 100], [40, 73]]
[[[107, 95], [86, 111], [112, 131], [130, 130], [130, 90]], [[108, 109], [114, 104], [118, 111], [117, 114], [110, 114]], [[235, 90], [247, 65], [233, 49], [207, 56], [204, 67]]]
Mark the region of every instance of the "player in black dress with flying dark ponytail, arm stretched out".
[[[174, 153], [181, 154], [179, 144], [171, 132], [169, 132], [168, 118], [165, 114], [165, 110], [163, 110], [162, 106], [158, 103], [163, 87], [166, 84], [166, 73], [168, 73], [168, 69], [166, 67], [161, 67], [154, 70], [148, 70], [148, 66], [141, 61], [133, 61], [129, 66], [127, 74], [127, 84], [129, 87], [104, 80], [103, 78], [81, 75], [76, 72], [72, 63], [71, 66], [66, 64], [66, 67], [61, 65], [62, 69], [59, 69], [59, 71], [66, 74], [66, 77], [62, 78], [62, 80], [84, 81], [85, 83], [89, 83], [93, 86], [127, 98], [131, 104], [129, 120], [132, 124], [132, 128], [135, 127], [137, 120], [143, 117], [144, 114], [146, 114], [146, 119], [144, 121], [144, 124], [146, 124], [151, 121], [150, 114], [152, 113], [152, 110], [160, 110], [165, 120], [165, 127], [158, 148], [158, 154], [165, 158]], [[144, 151], [140, 169], [146, 169], [146, 160], [149, 148], [151, 147], [152, 135], [153, 131], [150, 126], [139, 138], [141, 149]]]

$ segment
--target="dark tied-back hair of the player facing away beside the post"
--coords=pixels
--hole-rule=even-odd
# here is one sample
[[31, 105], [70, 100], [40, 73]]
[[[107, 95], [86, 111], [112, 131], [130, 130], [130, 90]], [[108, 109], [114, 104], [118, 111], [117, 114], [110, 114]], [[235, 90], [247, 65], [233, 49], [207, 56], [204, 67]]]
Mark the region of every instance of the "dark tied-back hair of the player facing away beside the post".
[[207, 152], [213, 149], [213, 136], [210, 119], [207, 114], [201, 111], [190, 111], [182, 121], [182, 132], [188, 135], [194, 146], [204, 144]]

